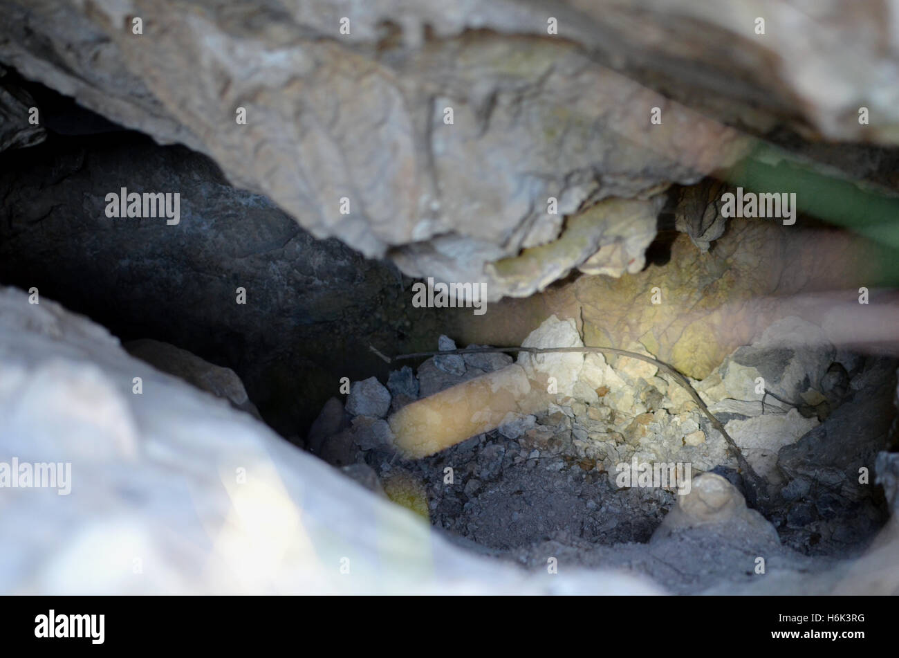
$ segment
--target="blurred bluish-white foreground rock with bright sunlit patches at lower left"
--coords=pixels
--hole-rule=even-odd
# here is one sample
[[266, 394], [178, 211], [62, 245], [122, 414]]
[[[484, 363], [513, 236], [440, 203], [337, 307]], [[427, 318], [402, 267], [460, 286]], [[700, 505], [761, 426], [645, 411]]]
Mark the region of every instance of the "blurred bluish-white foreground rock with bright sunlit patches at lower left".
[[143, 394], [132, 394], [138, 371], [146, 364], [102, 327], [47, 298], [32, 305], [20, 290], [0, 290], [3, 453], [70, 462], [72, 475], [67, 496], [4, 489], [0, 591], [660, 591], [576, 568], [526, 574], [454, 547], [179, 378], [149, 371]]

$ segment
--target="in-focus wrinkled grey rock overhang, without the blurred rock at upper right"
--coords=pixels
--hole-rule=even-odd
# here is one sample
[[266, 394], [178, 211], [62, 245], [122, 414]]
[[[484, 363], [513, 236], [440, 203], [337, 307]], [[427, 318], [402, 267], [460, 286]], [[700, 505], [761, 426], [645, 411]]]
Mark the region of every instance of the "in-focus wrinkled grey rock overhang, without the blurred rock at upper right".
[[[485, 280], [492, 299], [530, 294], [588, 259], [591, 271], [633, 271], [651, 210], [632, 229], [630, 210], [600, 204], [574, 236], [564, 216], [649, 199], [746, 149], [733, 129], [589, 57], [583, 45], [598, 44], [576, 43], [583, 26], [547, 38], [546, 9], [527, 4], [379, 2], [348, 11], [346, 35], [329, 4], [92, 6], [5, 0], [0, 61], [213, 157], [317, 237], [369, 257], [389, 250], [410, 275]], [[661, 125], [648, 120], [654, 107]], [[554, 243], [523, 278], [485, 269]]]

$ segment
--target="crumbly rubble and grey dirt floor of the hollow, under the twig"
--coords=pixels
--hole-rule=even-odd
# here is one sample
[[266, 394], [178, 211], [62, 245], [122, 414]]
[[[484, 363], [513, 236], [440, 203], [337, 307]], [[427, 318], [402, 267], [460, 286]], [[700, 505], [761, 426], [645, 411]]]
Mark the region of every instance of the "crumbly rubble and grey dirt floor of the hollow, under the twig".
[[[848, 583], [855, 567], [840, 557], [863, 555], [886, 520], [877, 490], [854, 485], [853, 474], [862, 465], [870, 469], [877, 450], [888, 445], [895, 363], [852, 365], [844, 352], [839, 358], [854, 373], [847, 390], [857, 395], [817, 407], [774, 398], [762, 405], [765, 394], [754, 388], [759, 371], [740, 360], [761, 365], [774, 390], [796, 392], [790, 387], [801, 383], [806, 398], [829, 370], [835, 351], [826, 342], [803, 351], [794, 345], [789, 355], [771, 358], [787, 349], [773, 337], [797, 327], [813, 332], [788, 318], [694, 382], [770, 483], [761, 510], [747, 508], [724, 439], [682, 387], [653, 364], [619, 358], [611, 366], [598, 354], [576, 355], [583, 363], [574, 370], [558, 362], [569, 355], [545, 355], [556, 357], [555, 367], [542, 364], [547, 373], [572, 370], [576, 380], [573, 395], [560, 392], [536, 416], [510, 414], [497, 430], [416, 461], [397, 460], [383, 440], [358, 436], [342, 458], [373, 467], [381, 478], [399, 474], [405, 493], [391, 496], [396, 502], [418, 513], [424, 506], [435, 526], [470, 547], [534, 568], [547, 556], [564, 556], [625, 567], [682, 593], [721, 591], [721, 582], [747, 591], [863, 591]], [[534, 340], [549, 346], [579, 338], [573, 321], [550, 317]], [[420, 375], [432, 372], [432, 360], [423, 362]], [[471, 368], [463, 379], [480, 374]], [[338, 447], [348, 438], [343, 432], [329, 441]], [[654, 465], [672, 467], [675, 479], [643, 484], [644, 465], [649, 472]], [[633, 479], [622, 480], [628, 472]], [[683, 476], [692, 476], [691, 486], [676, 479]], [[886, 532], [877, 538], [881, 544], [891, 541]], [[756, 571], [760, 557], [764, 572]], [[758, 582], [765, 574], [773, 575]]]

